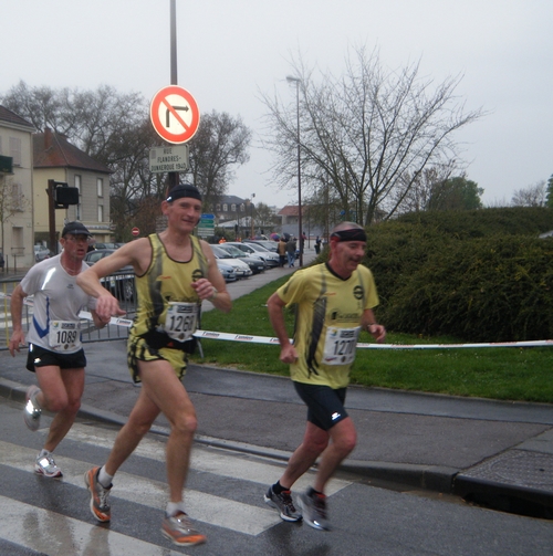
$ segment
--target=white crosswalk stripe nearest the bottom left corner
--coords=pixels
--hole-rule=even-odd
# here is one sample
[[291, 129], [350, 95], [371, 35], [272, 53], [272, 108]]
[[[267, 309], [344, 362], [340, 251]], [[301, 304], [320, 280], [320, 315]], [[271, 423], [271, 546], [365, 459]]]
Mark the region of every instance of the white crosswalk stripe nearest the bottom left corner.
[[0, 507], [6, 510], [0, 521], [0, 538], [50, 556], [182, 556], [180, 552], [2, 495]]

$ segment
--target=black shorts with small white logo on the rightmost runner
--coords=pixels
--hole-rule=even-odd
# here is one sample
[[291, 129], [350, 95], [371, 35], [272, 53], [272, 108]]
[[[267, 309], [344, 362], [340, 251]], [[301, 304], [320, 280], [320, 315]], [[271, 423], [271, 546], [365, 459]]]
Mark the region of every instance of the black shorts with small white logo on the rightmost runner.
[[307, 406], [307, 421], [323, 430], [332, 429], [347, 417], [344, 408], [346, 388], [294, 382], [295, 391]]

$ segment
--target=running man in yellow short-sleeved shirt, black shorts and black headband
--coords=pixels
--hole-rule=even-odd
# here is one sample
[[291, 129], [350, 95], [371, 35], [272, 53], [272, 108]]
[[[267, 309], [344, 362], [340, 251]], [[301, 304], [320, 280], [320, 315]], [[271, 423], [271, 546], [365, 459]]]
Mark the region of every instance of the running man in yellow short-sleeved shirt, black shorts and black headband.
[[[303, 442], [264, 500], [276, 507], [282, 520], [296, 522], [303, 517], [322, 531], [330, 529], [325, 485], [356, 443], [344, 401], [357, 338], [362, 328], [379, 343], [386, 337], [372, 311], [378, 304], [373, 274], [359, 264], [366, 240], [361, 225], [340, 223], [331, 234], [328, 262], [298, 271], [268, 301], [281, 346], [280, 359], [290, 364], [294, 387], [307, 406], [307, 424]], [[283, 315], [290, 305], [296, 305], [293, 344]], [[300, 494], [296, 508], [292, 485], [320, 455], [314, 484]]]

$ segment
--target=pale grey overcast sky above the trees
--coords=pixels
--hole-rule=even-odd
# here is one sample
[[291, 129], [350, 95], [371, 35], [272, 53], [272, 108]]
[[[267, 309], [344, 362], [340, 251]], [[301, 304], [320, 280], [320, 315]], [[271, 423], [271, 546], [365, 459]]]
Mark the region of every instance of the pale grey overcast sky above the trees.
[[[170, 84], [169, 0], [0, 0], [0, 94], [30, 86], [139, 92]], [[553, 174], [552, 0], [177, 0], [178, 84], [200, 113], [240, 115], [254, 135], [230, 193], [284, 206], [257, 147], [259, 91], [293, 101], [291, 59], [340, 75], [347, 50], [378, 48], [390, 69], [420, 60], [441, 82], [463, 75], [466, 109], [489, 112], [457, 137], [484, 204]]]

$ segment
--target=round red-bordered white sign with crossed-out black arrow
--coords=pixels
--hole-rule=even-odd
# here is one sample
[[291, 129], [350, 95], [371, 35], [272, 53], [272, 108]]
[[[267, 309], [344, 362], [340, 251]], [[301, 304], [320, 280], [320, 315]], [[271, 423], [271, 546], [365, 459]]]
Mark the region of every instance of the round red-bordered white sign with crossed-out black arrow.
[[194, 96], [178, 85], [169, 85], [155, 94], [149, 117], [159, 137], [175, 144], [190, 140], [200, 124]]

